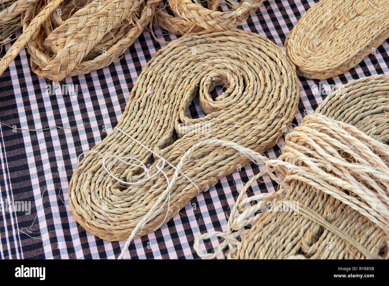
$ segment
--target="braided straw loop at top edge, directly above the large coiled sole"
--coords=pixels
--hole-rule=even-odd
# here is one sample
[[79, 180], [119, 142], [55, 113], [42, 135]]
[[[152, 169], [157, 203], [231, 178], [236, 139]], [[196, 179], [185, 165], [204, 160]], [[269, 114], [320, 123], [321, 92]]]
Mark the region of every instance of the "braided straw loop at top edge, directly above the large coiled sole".
[[174, 33], [184, 35], [187, 32], [200, 32], [202, 30], [225, 31], [242, 25], [247, 17], [262, 5], [264, 0], [247, 0], [242, 3], [226, 1], [233, 8], [227, 12], [218, 11], [219, 0], [207, 1], [203, 7], [197, 1], [169, 0], [170, 7], [181, 18], [175, 18], [159, 11], [157, 24]]

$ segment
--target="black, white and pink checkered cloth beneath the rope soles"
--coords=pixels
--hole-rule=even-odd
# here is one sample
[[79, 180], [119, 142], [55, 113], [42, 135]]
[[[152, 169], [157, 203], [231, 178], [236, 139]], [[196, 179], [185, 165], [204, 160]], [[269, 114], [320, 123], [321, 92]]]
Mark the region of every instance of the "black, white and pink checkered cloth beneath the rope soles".
[[[286, 35], [300, 16], [317, 0], [270, 0], [252, 14], [241, 29], [259, 33], [282, 47]], [[161, 6], [162, 7], [162, 6]], [[222, 10], [226, 6], [222, 5]], [[162, 35], [161, 40], [175, 36]], [[119, 121], [142, 67], [164, 44], [144, 31], [117, 63], [90, 74], [69, 77], [61, 83], [74, 84], [78, 94], [47, 92], [44, 78], [29, 66], [25, 49], [0, 77], [0, 257], [1, 258], [117, 258], [124, 241], [108, 242], [86, 232], [72, 216], [68, 204], [70, 178], [78, 157], [88, 152]], [[10, 44], [5, 46], [9, 49]], [[293, 124], [301, 124], [307, 111], [314, 110], [329, 94], [331, 85], [359, 77], [389, 74], [389, 45], [385, 41], [356, 68], [327, 81], [299, 77], [299, 110]], [[4, 49], [1, 56], [4, 56]], [[321, 88], [318, 88], [319, 83]], [[320, 89], [320, 90], [319, 90]], [[323, 92], [324, 91], [324, 92]], [[195, 98], [189, 108], [192, 117], [204, 116]], [[50, 126], [74, 127], [42, 129]], [[282, 145], [283, 138], [278, 144]], [[276, 158], [279, 146], [266, 155]], [[223, 177], [216, 186], [193, 198], [179, 214], [159, 230], [131, 242], [127, 258], [198, 258], [194, 239], [205, 232], [225, 231], [238, 191], [261, 166], [247, 165]], [[269, 177], [252, 185], [251, 192], [274, 191]], [[30, 208], [6, 209], [12, 202]], [[15, 204], [15, 203], [14, 203]], [[217, 247], [217, 238], [206, 241], [203, 249]], [[223, 258], [223, 256], [219, 256]]]

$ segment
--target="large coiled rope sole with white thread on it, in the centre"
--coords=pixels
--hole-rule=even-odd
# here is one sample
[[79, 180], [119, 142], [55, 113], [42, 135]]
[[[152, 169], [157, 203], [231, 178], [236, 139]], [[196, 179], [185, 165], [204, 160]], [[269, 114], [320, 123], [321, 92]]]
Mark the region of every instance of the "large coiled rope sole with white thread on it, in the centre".
[[[226, 91], [213, 99], [215, 85]], [[196, 93], [207, 115], [192, 119], [186, 112]], [[260, 35], [230, 30], [170, 42], [142, 69], [117, 127], [77, 166], [69, 185], [75, 219], [111, 241], [158, 229], [249, 161], [221, 146], [192, 150], [196, 143], [231, 140], [263, 152], [292, 121], [298, 100], [293, 65]]]

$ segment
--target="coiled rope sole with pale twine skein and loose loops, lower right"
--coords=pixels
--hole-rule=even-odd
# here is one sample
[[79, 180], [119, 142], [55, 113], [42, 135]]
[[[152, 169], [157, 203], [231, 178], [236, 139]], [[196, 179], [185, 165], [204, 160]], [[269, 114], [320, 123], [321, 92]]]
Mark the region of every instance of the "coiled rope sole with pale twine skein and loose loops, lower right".
[[[380, 127], [371, 131], [371, 122], [389, 124], [389, 76], [350, 82], [343, 90], [343, 104], [336, 91], [317, 112], [348, 120], [385, 141], [387, 131], [377, 132]], [[380, 115], [384, 115], [382, 120], [376, 120]], [[389, 147], [355, 126], [319, 113], [306, 116], [285, 141], [284, 153], [277, 160], [239, 150], [265, 163], [266, 170], [241, 191], [226, 233], [196, 238], [198, 254], [214, 258], [228, 245], [227, 257], [235, 259], [389, 258]], [[275, 171], [283, 178], [275, 176]], [[243, 198], [252, 182], [264, 174], [279, 183], [279, 190]], [[268, 211], [259, 213], [264, 208]], [[244, 229], [250, 224], [252, 228]], [[213, 236], [225, 240], [215, 253], [202, 253], [200, 240]]]

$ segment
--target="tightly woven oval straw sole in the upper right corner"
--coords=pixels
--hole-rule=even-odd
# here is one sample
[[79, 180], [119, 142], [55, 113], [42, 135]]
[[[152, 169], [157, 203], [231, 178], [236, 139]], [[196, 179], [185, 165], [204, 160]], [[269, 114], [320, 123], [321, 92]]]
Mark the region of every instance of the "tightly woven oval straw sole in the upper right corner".
[[389, 37], [389, 0], [322, 0], [285, 40], [298, 75], [327, 79], [355, 67]]

